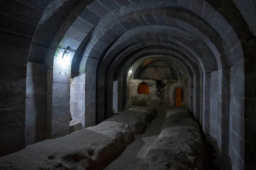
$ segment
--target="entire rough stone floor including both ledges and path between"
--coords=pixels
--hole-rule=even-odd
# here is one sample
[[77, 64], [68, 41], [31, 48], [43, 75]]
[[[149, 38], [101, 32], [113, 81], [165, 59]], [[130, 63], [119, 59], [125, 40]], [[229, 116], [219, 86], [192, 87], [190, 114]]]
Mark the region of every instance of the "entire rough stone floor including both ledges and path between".
[[0, 169], [231, 170], [214, 139], [201, 136], [184, 108], [133, 106], [97, 126], [4, 156]]

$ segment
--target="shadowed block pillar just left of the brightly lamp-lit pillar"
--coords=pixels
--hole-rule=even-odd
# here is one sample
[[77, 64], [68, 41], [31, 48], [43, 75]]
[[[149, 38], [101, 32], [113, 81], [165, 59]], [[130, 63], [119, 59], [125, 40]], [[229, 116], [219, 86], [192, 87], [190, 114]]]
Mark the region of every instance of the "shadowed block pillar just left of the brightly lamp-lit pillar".
[[47, 139], [47, 68], [28, 62], [26, 74], [26, 146]]

